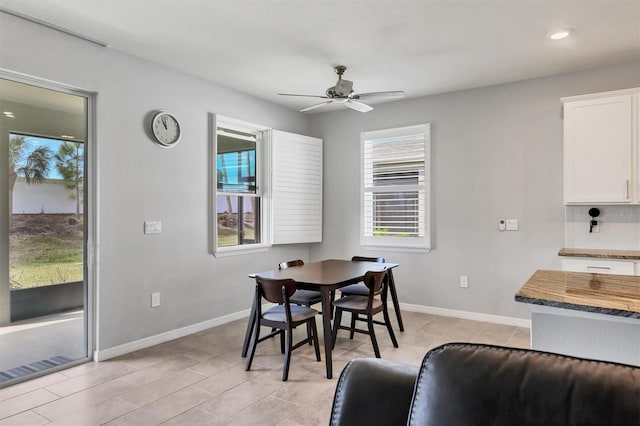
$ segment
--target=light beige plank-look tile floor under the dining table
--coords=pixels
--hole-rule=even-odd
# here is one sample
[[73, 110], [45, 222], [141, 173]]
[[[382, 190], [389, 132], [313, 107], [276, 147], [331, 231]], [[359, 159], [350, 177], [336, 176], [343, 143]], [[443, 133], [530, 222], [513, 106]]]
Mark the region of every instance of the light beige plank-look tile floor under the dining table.
[[[529, 347], [527, 328], [413, 312], [403, 319], [397, 349], [377, 328], [382, 358], [418, 365], [429, 349], [452, 341]], [[251, 371], [244, 371], [245, 326], [246, 320], [235, 321], [0, 389], [0, 426], [326, 425], [339, 372], [351, 359], [373, 356], [368, 336], [349, 340], [343, 331], [333, 379], [313, 349], [303, 347], [293, 352], [289, 380], [282, 382], [277, 339], [260, 343]]]

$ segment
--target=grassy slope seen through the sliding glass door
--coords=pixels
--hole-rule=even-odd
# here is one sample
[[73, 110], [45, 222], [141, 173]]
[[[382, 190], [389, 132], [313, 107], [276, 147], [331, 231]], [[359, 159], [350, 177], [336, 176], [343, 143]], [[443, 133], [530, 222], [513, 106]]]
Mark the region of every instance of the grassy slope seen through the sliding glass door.
[[83, 280], [81, 236], [11, 236], [9, 253], [11, 288]]

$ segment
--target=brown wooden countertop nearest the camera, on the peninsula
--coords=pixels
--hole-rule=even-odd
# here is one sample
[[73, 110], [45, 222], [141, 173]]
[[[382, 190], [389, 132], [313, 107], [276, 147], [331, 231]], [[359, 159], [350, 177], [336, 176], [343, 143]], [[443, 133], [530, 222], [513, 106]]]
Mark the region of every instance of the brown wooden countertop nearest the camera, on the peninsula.
[[640, 319], [640, 276], [537, 270], [515, 299]]

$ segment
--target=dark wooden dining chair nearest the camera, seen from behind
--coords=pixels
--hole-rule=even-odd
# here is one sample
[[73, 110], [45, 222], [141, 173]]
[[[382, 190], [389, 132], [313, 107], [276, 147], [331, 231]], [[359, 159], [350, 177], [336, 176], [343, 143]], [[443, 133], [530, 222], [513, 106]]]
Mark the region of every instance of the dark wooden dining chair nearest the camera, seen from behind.
[[[246, 371], [251, 369], [251, 363], [256, 353], [258, 343], [276, 335], [280, 335], [280, 349], [284, 353], [284, 366], [282, 381], [289, 377], [289, 365], [291, 364], [291, 352], [300, 346], [313, 344], [316, 352], [316, 360], [320, 361], [320, 345], [318, 343], [318, 331], [315, 317], [318, 311], [307, 306], [292, 305], [291, 296], [296, 293], [296, 282], [292, 279], [270, 279], [256, 276], [256, 332], [251, 344], [249, 361]], [[262, 299], [275, 303], [276, 306], [262, 311]], [[307, 324], [306, 339], [293, 344], [293, 329], [301, 324]], [[260, 337], [260, 326], [271, 327], [272, 331], [264, 337]], [[275, 330], [275, 331], [273, 331]]]

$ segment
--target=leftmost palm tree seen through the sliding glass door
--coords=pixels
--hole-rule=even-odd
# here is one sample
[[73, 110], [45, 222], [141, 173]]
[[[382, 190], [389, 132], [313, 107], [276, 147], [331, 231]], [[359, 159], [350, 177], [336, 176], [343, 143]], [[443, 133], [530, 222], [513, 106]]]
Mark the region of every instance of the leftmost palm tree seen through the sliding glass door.
[[39, 184], [49, 174], [51, 150], [45, 145], [31, 147], [25, 136], [9, 135], [9, 217], [13, 213], [13, 188], [18, 176], [24, 176], [28, 184]]

